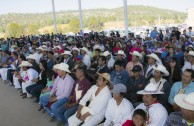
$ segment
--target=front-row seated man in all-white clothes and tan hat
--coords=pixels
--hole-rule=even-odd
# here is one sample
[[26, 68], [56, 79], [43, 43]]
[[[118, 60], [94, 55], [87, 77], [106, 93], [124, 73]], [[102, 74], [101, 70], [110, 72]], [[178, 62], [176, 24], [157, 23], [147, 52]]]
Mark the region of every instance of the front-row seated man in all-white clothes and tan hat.
[[[96, 126], [103, 121], [111, 92], [108, 88], [110, 75], [99, 74], [97, 85], [92, 86], [80, 100], [77, 113], [68, 119], [69, 126]], [[88, 107], [86, 103], [90, 101]]]

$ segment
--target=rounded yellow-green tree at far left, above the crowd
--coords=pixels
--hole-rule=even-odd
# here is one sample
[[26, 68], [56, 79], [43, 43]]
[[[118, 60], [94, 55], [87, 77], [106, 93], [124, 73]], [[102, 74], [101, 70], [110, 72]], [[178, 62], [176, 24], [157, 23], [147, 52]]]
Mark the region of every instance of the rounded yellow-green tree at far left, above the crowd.
[[19, 37], [23, 34], [23, 27], [17, 23], [9, 23], [6, 27], [6, 35], [11, 37]]

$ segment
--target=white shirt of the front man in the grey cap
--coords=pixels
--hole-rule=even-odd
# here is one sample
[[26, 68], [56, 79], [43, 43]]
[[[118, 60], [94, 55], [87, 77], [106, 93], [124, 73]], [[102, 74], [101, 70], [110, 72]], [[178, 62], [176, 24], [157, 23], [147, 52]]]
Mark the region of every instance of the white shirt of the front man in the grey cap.
[[114, 98], [111, 98], [108, 102], [108, 107], [105, 113], [106, 121], [104, 126], [110, 126], [111, 123], [114, 126], [122, 126], [125, 123], [125, 117], [133, 111], [133, 105], [127, 99], [123, 98], [120, 105]]

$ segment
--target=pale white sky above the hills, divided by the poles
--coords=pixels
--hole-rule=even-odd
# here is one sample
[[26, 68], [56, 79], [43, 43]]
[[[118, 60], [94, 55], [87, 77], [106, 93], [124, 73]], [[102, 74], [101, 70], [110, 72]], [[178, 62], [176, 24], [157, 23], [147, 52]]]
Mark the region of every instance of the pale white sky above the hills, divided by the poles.
[[[44, 13], [52, 11], [52, 0], [0, 0], [0, 15], [7, 13]], [[127, 0], [128, 5], [148, 5], [186, 12], [194, 0]], [[82, 9], [116, 8], [123, 0], [82, 0]], [[55, 0], [55, 10], [78, 10], [78, 0]]]

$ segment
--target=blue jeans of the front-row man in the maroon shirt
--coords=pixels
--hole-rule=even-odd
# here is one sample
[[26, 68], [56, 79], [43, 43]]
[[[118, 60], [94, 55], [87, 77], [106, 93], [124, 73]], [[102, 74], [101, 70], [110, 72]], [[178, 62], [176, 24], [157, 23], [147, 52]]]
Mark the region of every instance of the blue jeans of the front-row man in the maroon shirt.
[[73, 106], [73, 107], [71, 107], [69, 109], [67, 109], [65, 107], [65, 105], [60, 106], [57, 109], [57, 113], [58, 113], [57, 120], [63, 120], [64, 123], [67, 123], [68, 118], [70, 116], [72, 116], [73, 114], [75, 114], [75, 112], [77, 111], [77, 109], [78, 109], [78, 105]]

